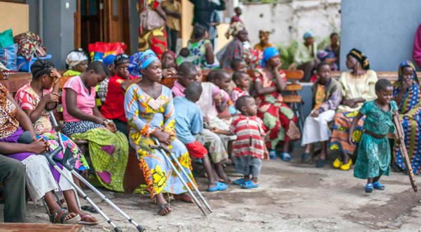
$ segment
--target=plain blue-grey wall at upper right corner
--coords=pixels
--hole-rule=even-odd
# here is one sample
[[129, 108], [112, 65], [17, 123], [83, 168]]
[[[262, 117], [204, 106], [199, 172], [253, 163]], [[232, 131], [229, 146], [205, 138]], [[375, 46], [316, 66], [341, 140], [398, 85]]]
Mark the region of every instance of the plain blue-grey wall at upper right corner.
[[419, 0], [343, 0], [341, 69], [352, 48], [363, 51], [375, 71], [397, 71], [399, 62], [412, 60], [419, 9]]

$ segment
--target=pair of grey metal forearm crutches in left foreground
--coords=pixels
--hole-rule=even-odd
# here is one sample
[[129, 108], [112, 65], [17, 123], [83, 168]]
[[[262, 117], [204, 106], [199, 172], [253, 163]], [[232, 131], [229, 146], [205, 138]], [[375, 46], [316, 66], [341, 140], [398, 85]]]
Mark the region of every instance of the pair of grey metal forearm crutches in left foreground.
[[[54, 127], [57, 128], [57, 121], [54, 117], [54, 113], [52, 111], [50, 111], [50, 117], [51, 120], [54, 124]], [[95, 210], [107, 221], [108, 224], [110, 224], [113, 228], [115, 232], [121, 232], [123, 231], [120, 227], [116, 226], [114, 224], [114, 222], [112, 222], [112, 220], [106, 215], [104, 214], [104, 212], [102, 212], [102, 210], [85, 194], [83, 193], [82, 189], [80, 189], [79, 186], [77, 186], [68, 176], [66, 176], [66, 174], [60, 169], [60, 167], [58, 167], [57, 163], [60, 163], [62, 166], [64, 166], [67, 170], [69, 170], [77, 179], [79, 179], [80, 181], [82, 181], [83, 183], [85, 183], [89, 188], [92, 189], [92, 191], [94, 191], [100, 198], [102, 198], [104, 201], [106, 201], [111, 207], [113, 207], [119, 214], [121, 214], [125, 219], [127, 219], [130, 223], [132, 223], [133, 225], [136, 226], [136, 229], [139, 230], [140, 232], [145, 231], [145, 229], [139, 225], [138, 223], [136, 223], [131, 217], [129, 217], [127, 214], [125, 214], [123, 212], [123, 210], [121, 210], [117, 205], [115, 205], [110, 199], [108, 199], [106, 196], [104, 196], [101, 192], [98, 191], [98, 189], [96, 189], [91, 183], [89, 183], [87, 180], [85, 180], [85, 178], [83, 178], [82, 176], [79, 175], [79, 173], [77, 173], [72, 165], [70, 165], [69, 163], [69, 158], [71, 156], [73, 156], [72, 152], [71, 152], [71, 147], [68, 144], [67, 147], [65, 147], [62, 139], [61, 139], [61, 133], [59, 131], [57, 131], [58, 134], [58, 140], [60, 142], [60, 146], [57, 147], [57, 149], [55, 149], [53, 152], [51, 152], [50, 154], [48, 153], [43, 153], [43, 155], [47, 158], [48, 162], [60, 173], [60, 175], [62, 177], [64, 177], [75, 189], [76, 191], [82, 196], [83, 199], [85, 199], [86, 201], [88, 201], [92, 207], [95, 208]], [[56, 158], [55, 156], [61, 152], [65, 150], [64, 156], [62, 159]]]

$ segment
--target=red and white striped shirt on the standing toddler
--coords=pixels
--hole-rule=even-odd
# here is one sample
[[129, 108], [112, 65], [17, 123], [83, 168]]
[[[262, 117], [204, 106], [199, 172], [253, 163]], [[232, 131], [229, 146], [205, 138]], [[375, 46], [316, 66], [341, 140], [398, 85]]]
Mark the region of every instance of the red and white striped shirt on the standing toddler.
[[237, 140], [233, 143], [235, 156], [254, 156], [263, 159], [265, 143], [262, 136], [265, 136], [266, 128], [259, 117], [235, 116], [229, 129], [237, 135]]

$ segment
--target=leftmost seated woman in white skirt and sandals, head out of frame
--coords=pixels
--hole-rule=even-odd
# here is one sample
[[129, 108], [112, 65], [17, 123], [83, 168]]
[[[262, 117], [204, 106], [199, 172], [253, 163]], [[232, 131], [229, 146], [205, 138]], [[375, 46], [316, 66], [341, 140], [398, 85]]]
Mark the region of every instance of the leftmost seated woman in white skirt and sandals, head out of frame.
[[[17, 145], [19, 137], [24, 134], [24, 131], [30, 134], [32, 142]], [[94, 217], [79, 209], [72, 185], [49, 165], [45, 156], [37, 155], [49, 150], [48, 142], [42, 138], [36, 140], [31, 119], [17, 106], [2, 84], [0, 84], [0, 150], [3, 155], [17, 159], [26, 166], [26, 182], [32, 201], [37, 203], [44, 198], [52, 223], [98, 223]], [[66, 168], [62, 168], [62, 170], [65, 175], [72, 178]], [[52, 191], [58, 189], [65, 197], [69, 208], [68, 212], [61, 208], [55, 200]]]

